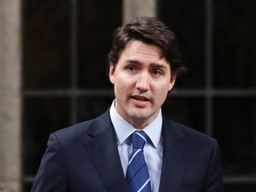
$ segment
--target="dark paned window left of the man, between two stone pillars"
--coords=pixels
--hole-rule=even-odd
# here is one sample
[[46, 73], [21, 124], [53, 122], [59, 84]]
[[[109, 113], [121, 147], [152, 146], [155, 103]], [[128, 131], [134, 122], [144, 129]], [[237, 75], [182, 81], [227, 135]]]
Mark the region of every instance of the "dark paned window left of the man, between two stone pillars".
[[22, 184], [30, 191], [51, 132], [98, 116], [113, 100], [107, 53], [120, 1], [23, 2]]

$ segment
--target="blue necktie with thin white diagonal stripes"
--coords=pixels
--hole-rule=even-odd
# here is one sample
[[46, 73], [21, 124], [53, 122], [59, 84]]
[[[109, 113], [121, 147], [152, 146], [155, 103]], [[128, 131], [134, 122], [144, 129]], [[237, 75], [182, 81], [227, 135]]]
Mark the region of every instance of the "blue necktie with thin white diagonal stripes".
[[148, 166], [143, 155], [143, 148], [148, 135], [143, 131], [132, 133], [132, 154], [126, 172], [126, 182], [129, 192], [150, 192], [150, 178]]

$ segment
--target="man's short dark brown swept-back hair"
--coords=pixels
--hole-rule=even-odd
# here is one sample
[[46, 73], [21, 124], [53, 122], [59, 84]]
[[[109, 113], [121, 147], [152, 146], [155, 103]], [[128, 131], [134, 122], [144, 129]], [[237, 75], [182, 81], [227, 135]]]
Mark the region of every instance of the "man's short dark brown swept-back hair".
[[161, 57], [167, 60], [172, 74], [185, 72], [176, 35], [163, 22], [155, 17], [140, 17], [116, 28], [112, 47], [108, 53], [108, 64], [116, 66], [125, 45], [131, 40], [139, 40], [145, 44], [153, 44], [160, 48]]

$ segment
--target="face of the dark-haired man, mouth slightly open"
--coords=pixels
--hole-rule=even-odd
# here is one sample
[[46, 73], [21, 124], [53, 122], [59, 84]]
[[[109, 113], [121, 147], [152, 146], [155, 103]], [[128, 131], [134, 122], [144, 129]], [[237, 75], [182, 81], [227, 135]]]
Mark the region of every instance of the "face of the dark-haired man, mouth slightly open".
[[143, 129], [158, 115], [175, 77], [157, 46], [130, 41], [116, 67], [109, 69], [117, 113], [135, 128]]

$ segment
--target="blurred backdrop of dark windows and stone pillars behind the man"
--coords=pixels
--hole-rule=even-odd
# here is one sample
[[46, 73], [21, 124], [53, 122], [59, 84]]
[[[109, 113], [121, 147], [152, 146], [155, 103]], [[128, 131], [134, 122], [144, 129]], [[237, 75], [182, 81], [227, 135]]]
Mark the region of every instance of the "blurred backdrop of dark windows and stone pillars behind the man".
[[1, 0], [0, 190], [28, 192], [51, 132], [100, 115], [113, 30], [156, 16], [188, 73], [164, 104], [220, 143], [226, 192], [256, 191], [256, 1]]

